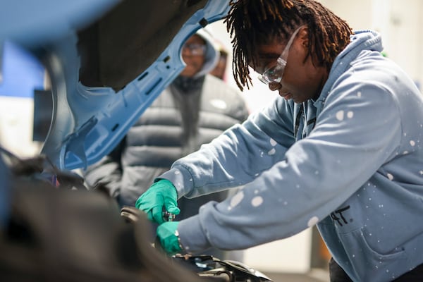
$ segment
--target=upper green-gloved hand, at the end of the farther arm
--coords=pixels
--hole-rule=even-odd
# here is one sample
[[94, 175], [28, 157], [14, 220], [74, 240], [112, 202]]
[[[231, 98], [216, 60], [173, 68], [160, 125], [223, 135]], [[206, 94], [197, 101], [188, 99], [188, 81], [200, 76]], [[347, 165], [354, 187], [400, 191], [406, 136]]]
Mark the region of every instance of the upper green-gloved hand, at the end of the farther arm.
[[135, 202], [135, 207], [147, 214], [150, 221], [164, 223], [163, 207], [171, 214], [179, 214], [180, 209], [176, 204], [178, 193], [171, 181], [160, 179], [145, 191]]

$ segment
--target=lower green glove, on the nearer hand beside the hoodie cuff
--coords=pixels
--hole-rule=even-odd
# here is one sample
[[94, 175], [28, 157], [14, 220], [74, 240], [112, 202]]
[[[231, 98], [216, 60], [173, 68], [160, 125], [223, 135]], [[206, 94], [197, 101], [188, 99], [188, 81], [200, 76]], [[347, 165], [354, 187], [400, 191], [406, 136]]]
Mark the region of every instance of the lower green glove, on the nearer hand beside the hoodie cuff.
[[157, 227], [158, 241], [168, 255], [175, 255], [182, 251], [177, 235], [178, 224], [178, 221], [168, 221]]

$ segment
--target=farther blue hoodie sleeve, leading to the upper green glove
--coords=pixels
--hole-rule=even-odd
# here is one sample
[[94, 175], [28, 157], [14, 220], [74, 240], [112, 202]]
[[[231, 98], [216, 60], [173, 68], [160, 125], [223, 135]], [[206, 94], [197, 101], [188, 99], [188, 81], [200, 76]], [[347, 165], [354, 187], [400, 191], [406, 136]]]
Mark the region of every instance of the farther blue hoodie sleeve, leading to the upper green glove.
[[[276, 99], [265, 111], [175, 161], [160, 178], [171, 180], [178, 197], [197, 197], [250, 183], [280, 161], [295, 141], [292, 112], [293, 104]], [[275, 114], [281, 118], [272, 118]]]

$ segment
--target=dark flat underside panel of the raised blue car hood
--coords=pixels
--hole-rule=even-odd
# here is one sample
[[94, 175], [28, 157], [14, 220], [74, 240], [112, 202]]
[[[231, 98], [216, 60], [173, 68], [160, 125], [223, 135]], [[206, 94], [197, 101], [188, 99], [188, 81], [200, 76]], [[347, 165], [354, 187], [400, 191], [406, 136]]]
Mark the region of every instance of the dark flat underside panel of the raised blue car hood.
[[[126, 0], [78, 32], [82, 85], [116, 92], [145, 71], [207, 0]], [[201, 19], [200, 25], [207, 25]]]

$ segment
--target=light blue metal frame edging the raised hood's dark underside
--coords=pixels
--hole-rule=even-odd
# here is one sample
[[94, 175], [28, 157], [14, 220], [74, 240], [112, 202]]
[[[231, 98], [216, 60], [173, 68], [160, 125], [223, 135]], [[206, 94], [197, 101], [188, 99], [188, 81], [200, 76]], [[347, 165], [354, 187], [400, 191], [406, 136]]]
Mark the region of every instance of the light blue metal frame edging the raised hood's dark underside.
[[[209, 0], [173, 38], [152, 66], [119, 92], [85, 87], [78, 82], [78, 54], [74, 34], [49, 47], [54, 74], [54, 113], [42, 153], [61, 169], [86, 168], [118, 145], [137, 118], [183, 68], [180, 48], [200, 27], [228, 13], [229, 0]], [[52, 79], [52, 80], [53, 80]]]

